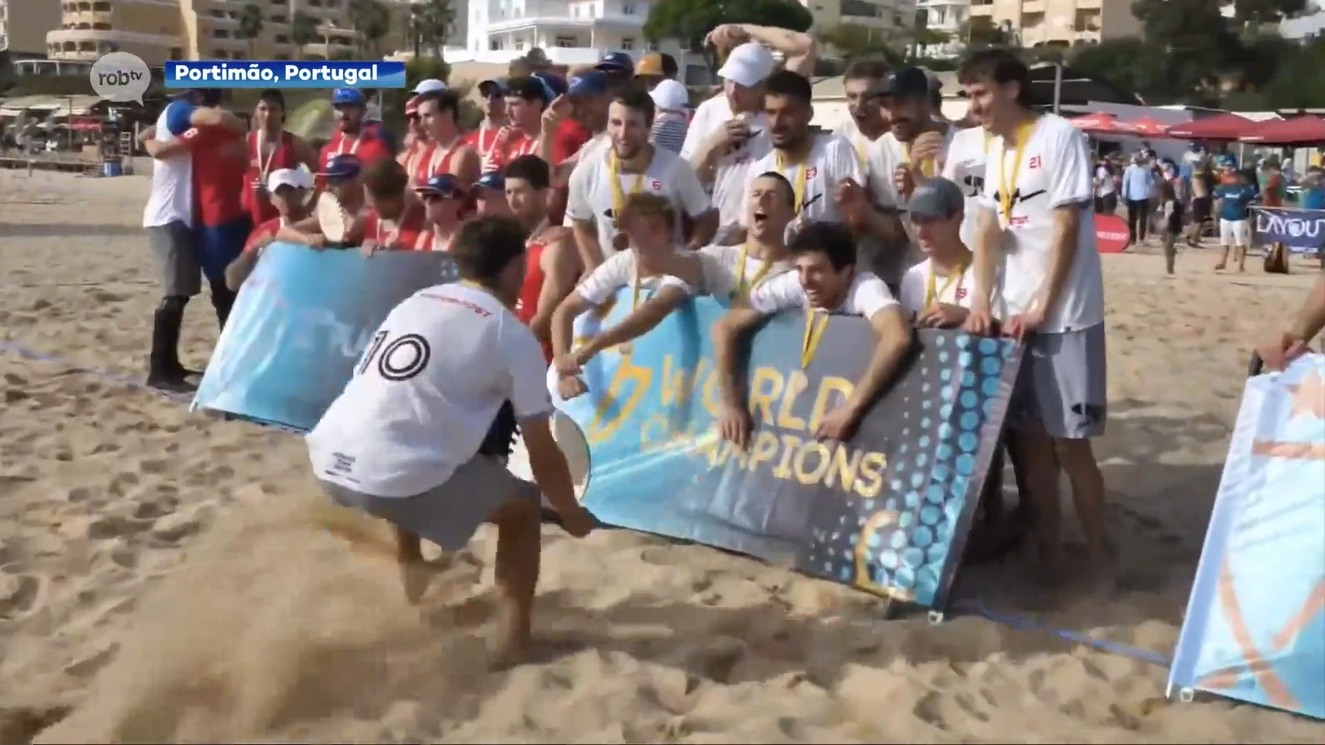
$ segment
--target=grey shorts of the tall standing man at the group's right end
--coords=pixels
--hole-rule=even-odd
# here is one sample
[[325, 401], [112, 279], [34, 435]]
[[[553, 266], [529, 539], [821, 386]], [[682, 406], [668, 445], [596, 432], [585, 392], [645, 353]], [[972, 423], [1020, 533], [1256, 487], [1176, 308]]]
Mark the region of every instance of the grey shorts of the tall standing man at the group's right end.
[[1098, 437], [1108, 407], [1104, 323], [1030, 338], [1008, 414], [1012, 430], [1061, 440]]

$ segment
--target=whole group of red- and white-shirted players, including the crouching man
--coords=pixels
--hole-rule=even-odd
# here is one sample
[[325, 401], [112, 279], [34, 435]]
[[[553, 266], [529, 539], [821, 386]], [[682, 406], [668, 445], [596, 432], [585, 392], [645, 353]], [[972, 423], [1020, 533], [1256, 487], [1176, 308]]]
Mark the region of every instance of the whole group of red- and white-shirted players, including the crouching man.
[[[249, 134], [215, 101], [172, 103], [150, 135], [158, 174], [180, 184], [146, 220], [166, 268], [152, 380], [187, 384], [178, 315], [200, 272], [224, 323], [276, 240], [367, 256], [448, 252], [460, 281], [390, 314], [307, 443], [333, 498], [396, 525], [412, 599], [427, 585], [420, 538], [458, 550], [480, 524], [498, 526], [497, 583], [511, 614], [504, 650], [518, 659], [538, 578], [539, 494], [568, 533], [594, 525], [553, 437], [550, 367], [559, 396], [583, 395], [594, 355], [628, 353], [686, 300], [712, 296], [729, 308], [712, 330], [717, 427], [747, 447], [757, 423], [742, 338], [770, 314], [802, 313], [808, 367], [827, 317], [859, 315], [877, 343], [818, 432], [848, 440], [916, 327], [1008, 334], [1027, 353], [1006, 444], [1040, 561], [1047, 571], [1067, 565], [1061, 471], [1090, 558], [1102, 562], [1090, 439], [1104, 431], [1105, 339], [1090, 154], [1065, 119], [1030, 107], [1024, 64], [1002, 49], [965, 61], [963, 127], [942, 119], [925, 70], [859, 61], [845, 74], [852, 119], [815, 134], [810, 81], [750, 40], [733, 45], [723, 91], [696, 109], [674, 152], [651, 137], [674, 106], [659, 95], [666, 86], [607, 62], [570, 81], [485, 81], [485, 119], [468, 134], [456, 94], [425, 81], [400, 152], [364, 121], [355, 90], [335, 91], [338, 131], [321, 154], [281, 129], [277, 91], [264, 94]], [[192, 152], [192, 172], [180, 151]], [[235, 204], [220, 196], [231, 188]], [[621, 322], [575, 338], [579, 315], [619, 297], [631, 304]], [[537, 485], [481, 452], [504, 411], [519, 423]]]

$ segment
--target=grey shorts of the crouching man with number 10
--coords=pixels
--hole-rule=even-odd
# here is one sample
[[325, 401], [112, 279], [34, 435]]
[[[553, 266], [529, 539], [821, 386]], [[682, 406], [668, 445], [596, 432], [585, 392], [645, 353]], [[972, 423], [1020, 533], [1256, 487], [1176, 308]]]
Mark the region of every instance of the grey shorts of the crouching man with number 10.
[[464, 549], [478, 526], [511, 500], [531, 500], [537, 506], [542, 502], [537, 485], [515, 477], [497, 459], [485, 455], [476, 455], [447, 483], [413, 497], [374, 497], [330, 481], [321, 484], [342, 506], [362, 509], [417, 533], [447, 551]]

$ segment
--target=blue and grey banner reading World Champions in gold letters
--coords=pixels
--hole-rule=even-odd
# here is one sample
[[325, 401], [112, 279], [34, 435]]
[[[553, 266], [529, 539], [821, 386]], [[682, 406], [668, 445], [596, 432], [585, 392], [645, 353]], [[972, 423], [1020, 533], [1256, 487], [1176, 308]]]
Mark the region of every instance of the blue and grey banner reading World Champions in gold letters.
[[[629, 310], [629, 290], [606, 319]], [[942, 607], [986, 471], [999, 447], [1022, 350], [1008, 339], [920, 333], [921, 350], [848, 443], [818, 440], [869, 362], [874, 331], [833, 317], [808, 370], [804, 317], [774, 317], [753, 339], [749, 452], [721, 441], [712, 298], [600, 354], [588, 394], [558, 408], [584, 435], [584, 506], [610, 525], [742, 551], [880, 595]], [[554, 383], [550, 374], [549, 382]]]

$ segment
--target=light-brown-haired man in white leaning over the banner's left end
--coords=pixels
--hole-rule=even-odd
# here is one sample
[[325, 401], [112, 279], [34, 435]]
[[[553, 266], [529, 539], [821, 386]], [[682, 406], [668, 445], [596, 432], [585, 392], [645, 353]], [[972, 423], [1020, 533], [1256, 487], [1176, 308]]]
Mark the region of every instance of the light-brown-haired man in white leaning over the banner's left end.
[[[700, 262], [692, 253], [678, 253], [677, 209], [659, 194], [632, 194], [625, 198], [617, 224], [629, 248], [615, 252], [566, 296], [553, 313], [553, 366], [559, 376], [558, 392], [566, 400], [584, 394], [580, 369], [595, 354], [629, 341], [611, 330], [572, 350], [575, 319], [602, 308], [624, 288], [632, 288], [631, 310], [651, 298], [678, 305], [693, 297], [702, 284]], [[674, 308], [672, 305], [672, 308]], [[633, 337], [632, 337], [633, 338]], [[608, 343], [611, 342], [611, 343]]]

